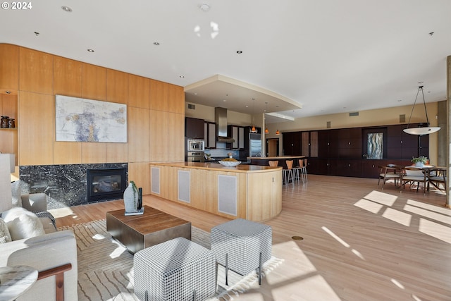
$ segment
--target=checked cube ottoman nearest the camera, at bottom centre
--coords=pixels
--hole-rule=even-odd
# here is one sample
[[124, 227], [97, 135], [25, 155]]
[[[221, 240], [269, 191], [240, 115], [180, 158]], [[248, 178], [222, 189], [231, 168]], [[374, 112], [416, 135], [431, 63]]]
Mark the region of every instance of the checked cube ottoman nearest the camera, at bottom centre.
[[135, 254], [135, 295], [144, 301], [204, 300], [216, 293], [213, 252], [174, 238]]

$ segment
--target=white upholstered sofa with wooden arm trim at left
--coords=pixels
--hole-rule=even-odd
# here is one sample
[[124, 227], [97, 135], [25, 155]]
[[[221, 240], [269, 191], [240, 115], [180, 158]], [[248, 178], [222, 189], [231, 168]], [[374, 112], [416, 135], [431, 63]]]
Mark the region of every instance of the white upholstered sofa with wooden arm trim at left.
[[[28, 211], [47, 210], [46, 195], [23, 195], [20, 199], [21, 206]], [[51, 216], [37, 216], [41, 216], [39, 221], [43, 224], [45, 234], [1, 243], [0, 266], [26, 265], [39, 271], [38, 281], [20, 295], [18, 301], [61, 300], [61, 297], [66, 301], [76, 301], [78, 265], [75, 235], [72, 231], [56, 231]], [[60, 285], [57, 283], [61, 283], [61, 280], [63, 290], [57, 289]]]

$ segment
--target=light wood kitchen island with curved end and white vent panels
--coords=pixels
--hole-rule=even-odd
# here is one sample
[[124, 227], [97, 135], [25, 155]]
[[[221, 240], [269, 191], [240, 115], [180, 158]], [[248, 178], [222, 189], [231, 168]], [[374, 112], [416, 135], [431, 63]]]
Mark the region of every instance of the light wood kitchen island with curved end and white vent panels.
[[151, 195], [230, 219], [266, 221], [282, 210], [282, 168], [218, 163], [150, 164]]

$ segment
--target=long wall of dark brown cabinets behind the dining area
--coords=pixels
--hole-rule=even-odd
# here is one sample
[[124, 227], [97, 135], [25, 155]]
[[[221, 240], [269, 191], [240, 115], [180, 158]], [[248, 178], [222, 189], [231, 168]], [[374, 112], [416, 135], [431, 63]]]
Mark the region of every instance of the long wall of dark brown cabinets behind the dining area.
[[[283, 151], [285, 155], [307, 156], [309, 173], [378, 178], [380, 165], [407, 166], [412, 156], [428, 156], [428, 135], [409, 135], [404, 133], [405, 127], [384, 125], [283, 133]], [[366, 159], [370, 133], [383, 133], [383, 159]]]

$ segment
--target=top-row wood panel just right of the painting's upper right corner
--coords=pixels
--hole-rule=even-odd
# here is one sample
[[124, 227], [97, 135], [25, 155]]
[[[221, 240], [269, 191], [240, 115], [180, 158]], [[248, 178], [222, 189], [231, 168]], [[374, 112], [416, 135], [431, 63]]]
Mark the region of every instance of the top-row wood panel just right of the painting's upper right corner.
[[149, 78], [132, 74], [128, 75], [128, 105], [143, 109], [150, 108]]

